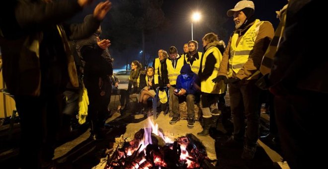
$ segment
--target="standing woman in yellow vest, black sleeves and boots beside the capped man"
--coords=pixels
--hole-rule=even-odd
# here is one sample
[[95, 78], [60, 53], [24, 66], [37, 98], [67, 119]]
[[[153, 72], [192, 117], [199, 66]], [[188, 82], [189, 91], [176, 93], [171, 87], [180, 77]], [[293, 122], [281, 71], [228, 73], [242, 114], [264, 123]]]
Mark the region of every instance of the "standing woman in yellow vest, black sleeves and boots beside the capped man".
[[[203, 114], [203, 131], [197, 133], [200, 136], [209, 135], [209, 129], [213, 122], [216, 122], [220, 113], [219, 111], [211, 111], [210, 106], [215, 104], [217, 107], [219, 94], [226, 91], [226, 84], [214, 83], [214, 79], [218, 75], [222, 54], [219, 50], [223, 45], [220, 43], [218, 35], [208, 33], [203, 37], [204, 55], [201, 62], [201, 99], [200, 108]], [[218, 110], [216, 108], [216, 110]]]

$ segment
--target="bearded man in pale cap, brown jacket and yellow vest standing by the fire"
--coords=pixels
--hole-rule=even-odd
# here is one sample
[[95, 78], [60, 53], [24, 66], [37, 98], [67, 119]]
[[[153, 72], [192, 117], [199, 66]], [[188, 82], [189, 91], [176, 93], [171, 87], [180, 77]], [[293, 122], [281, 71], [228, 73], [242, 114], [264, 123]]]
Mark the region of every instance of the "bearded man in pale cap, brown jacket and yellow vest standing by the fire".
[[262, 57], [274, 35], [270, 22], [255, 19], [254, 8], [252, 1], [241, 0], [233, 9], [228, 10], [227, 15], [234, 16], [236, 30], [223, 54], [218, 77], [213, 79], [213, 82], [224, 80], [229, 84], [234, 133], [226, 146], [242, 147], [245, 139], [242, 154], [242, 159], [245, 160], [253, 159], [256, 152], [260, 89], [255, 82], [260, 76]]

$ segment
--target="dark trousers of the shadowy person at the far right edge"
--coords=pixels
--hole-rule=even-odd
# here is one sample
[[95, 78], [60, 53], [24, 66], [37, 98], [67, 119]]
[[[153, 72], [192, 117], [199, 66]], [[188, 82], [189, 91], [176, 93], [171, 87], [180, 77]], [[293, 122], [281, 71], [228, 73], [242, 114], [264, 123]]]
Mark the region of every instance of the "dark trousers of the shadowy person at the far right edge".
[[322, 154], [327, 150], [323, 138], [327, 133], [324, 114], [328, 94], [299, 90], [274, 101], [281, 147], [290, 168], [322, 168], [326, 164]]

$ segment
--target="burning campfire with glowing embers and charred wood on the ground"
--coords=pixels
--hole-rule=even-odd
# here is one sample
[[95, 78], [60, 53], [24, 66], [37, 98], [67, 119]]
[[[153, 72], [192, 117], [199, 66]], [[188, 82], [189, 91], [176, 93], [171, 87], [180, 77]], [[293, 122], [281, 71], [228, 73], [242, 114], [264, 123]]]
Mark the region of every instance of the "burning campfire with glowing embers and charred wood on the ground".
[[148, 118], [151, 127], [116, 142], [105, 169], [211, 169], [206, 147], [193, 134], [171, 140]]

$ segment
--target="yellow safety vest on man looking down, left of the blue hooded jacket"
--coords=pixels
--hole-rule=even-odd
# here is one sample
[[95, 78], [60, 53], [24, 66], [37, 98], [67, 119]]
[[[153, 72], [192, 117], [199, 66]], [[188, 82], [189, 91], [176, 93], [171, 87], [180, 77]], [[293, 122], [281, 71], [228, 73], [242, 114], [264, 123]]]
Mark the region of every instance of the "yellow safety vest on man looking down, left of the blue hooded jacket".
[[180, 75], [181, 68], [183, 66], [183, 58], [180, 57], [177, 59], [176, 67], [175, 69], [172, 66], [172, 62], [169, 59], [166, 59], [166, 65], [167, 65], [167, 76], [169, 84], [174, 85], [176, 84], [177, 76]]

